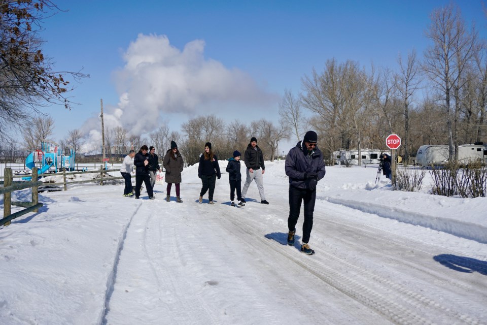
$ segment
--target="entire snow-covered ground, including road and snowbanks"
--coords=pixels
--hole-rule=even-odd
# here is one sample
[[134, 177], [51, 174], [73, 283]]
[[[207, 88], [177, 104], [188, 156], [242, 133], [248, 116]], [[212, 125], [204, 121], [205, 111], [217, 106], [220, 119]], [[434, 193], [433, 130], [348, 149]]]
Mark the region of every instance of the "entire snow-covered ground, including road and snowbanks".
[[487, 199], [432, 196], [429, 174], [393, 191], [376, 171], [327, 167], [312, 256], [286, 245], [284, 161], [266, 163], [269, 205], [252, 184], [231, 207], [226, 173], [198, 204], [197, 166], [182, 204], [165, 185], [153, 201], [121, 183], [43, 192], [0, 229], [0, 324], [487, 323]]

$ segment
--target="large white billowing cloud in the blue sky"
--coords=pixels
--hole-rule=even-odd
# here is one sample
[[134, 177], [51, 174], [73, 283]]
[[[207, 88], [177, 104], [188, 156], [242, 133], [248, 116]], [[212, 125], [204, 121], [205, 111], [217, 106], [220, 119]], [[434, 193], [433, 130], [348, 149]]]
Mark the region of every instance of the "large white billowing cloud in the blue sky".
[[[161, 114], [191, 118], [201, 114], [202, 107], [214, 106], [233, 108], [225, 113], [237, 118], [238, 106], [276, 107], [275, 94], [260, 89], [249, 74], [204, 58], [204, 46], [204, 41], [194, 40], [181, 51], [165, 35], [138, 35], [123, 54], [125, 66], [114, 73], [120, 99], [104, 114], [106, 127], [121, 125], [133, 134], [145, 134], [159, 126]], [[85, 133], [90, 125], [99, 129], [95, 119], [85, 123]]]

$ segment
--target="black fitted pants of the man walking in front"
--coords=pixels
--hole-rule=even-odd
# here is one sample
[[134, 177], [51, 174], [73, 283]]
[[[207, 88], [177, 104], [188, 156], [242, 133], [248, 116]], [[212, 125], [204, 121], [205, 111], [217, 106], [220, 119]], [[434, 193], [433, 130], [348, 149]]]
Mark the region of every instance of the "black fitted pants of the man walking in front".
[[302, 242], [308, 243], [311, 229], [313, 228], [313, 212], [315, 211], [316, 189], [302, 189], [289, 186], [289, 218], [288, 228], [293, 231], [301, 210], [301, 202], [304, 202], [304, 222]]

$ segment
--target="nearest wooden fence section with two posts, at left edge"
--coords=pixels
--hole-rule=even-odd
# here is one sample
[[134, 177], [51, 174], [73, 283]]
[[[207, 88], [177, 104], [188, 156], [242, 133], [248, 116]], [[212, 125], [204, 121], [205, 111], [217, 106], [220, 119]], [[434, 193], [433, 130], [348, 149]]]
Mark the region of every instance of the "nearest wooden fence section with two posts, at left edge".
[[[38, 170], [36, 167], [32, 168], [32, 176], [30, 182], [24, 182], [20, 184], [12, 184], [12, 169], [5, 169], [4, 187], [0, 188], [0, 194], [4, 194], [4, 217], [0, 219], [0, 225], [9, 225], [12, 219], [20, 217], [28, 212], [39, 212], [39, 208], [43, 206], [39, 203], [39, 185], [42, 182], [38, 181]], [[32, 188], [32, 201], [31, 202], [12, 202], [12, 192], [24, 188]], [[12, 213], [12, 205], [21, 206], [25, 209]]]

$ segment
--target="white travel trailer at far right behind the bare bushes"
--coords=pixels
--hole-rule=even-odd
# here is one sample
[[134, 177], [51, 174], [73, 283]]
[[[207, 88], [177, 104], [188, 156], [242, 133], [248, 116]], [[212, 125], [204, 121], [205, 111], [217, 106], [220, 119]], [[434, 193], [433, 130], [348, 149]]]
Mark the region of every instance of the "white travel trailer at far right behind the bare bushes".
[[[416, 165], [442, 166], [448, 163], [447, 145], [423, 145], [416, 153]], [[475, 144], [461, 144], [458, 146], [458, 161], [467, 165], [470, 161], [487, 163], [487, 144], [477, 142]]]

